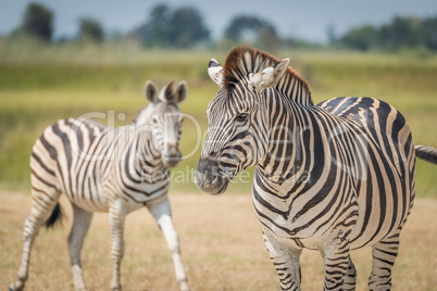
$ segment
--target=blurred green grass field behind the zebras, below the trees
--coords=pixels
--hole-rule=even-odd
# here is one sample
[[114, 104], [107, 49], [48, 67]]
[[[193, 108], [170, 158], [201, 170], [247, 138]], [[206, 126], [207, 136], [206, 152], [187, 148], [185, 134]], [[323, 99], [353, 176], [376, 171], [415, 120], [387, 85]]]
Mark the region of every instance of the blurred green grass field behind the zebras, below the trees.
[[[187, 80], [189, 94], [183, 112], [192, 115], [202, 132], [204, 111], [217, 87], [209, 80], [211, 58], [224, 63], [226, 53], [203, 51], [143, 51], [125, 45], [60, 45], [0, 41], [0, 187], [28, 189], [32, 146], [43, 128], [59, 118], [89, 112], [124, 113], [123, 125], [146, 104], [147, 79], [160, 87]], [[415, 143], [437, 146], [437, 55], [386, 55], [337, 52], [279, 52], [310, 81], [320, 102], [338, 96], [371, 96], [395, 105], [409, 122]], [[102, 121], [105, 123], [105, 121]], [[202, 141], [203, 142], [203, 141]], [[174, 172], [173, 189], [198, 191], [190, 181], [200, 155], [193, 123], [186, 118], [180, 149], [192, 152]], [[250, 174], [251, 172], [249, 172]], [[416, 192], [437, 197], [435, 167], [417, 163]], [[251, 179], [235, 182], [234, 192], [250, 192]]]

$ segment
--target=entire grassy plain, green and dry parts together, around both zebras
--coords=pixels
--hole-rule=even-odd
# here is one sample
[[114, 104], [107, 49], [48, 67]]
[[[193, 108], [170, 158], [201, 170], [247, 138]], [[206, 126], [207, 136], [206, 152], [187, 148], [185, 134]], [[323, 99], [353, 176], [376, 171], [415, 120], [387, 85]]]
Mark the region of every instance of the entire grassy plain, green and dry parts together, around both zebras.
[[[407, 118], [416, 143], [437, 147], [437, 55], [277, 52], [310, 81], [315, 102], [337, 96], [371, 96], [395, 105]], [[211, 58], [222, 64], [226, 52], [142, 51], [123, 46], [0, 41], [0, 290], [14, 279], [22, 230], [28, 215], [32, 146], [43, 128], [59, 118], [103, 113], [97, 121], [124, 125], [145, 105], [142, 85], [187, 80], [189, 96], [180, 110], [207, 128], [205, 107], [217, 91], [209, 80]], [[124, 116], [126, 116], [124, 118]], [[275, 270], [262, 243], [250, 197], [251, 172], [232, 184], [225, 195], [201, 194], [192, 184], [202, 138], [186, 118], [180, 150], [186, 159], [173, 170], [171, 201], [185, 265], [193, 290], [277, 290]], [[394, 290], [436, 290], [436, 167], [417, 162], [417, 200], [401, 236]], [[64, 228], [41, 230], [28, 290], [72, 289]], [[147, 211], [128, 215], [122, 283], [125, 290], [175, 290], [171, 256]], [[353, 253], [358, 290], [365, 290], [371, 252]], [[108, 216], [97, 214], [87, 236], [85, 277], [91, 290], [105, 290], [111, 278]], [[303, 290], [321, 290], [323, 263], [312, 251], [301, 258]]]

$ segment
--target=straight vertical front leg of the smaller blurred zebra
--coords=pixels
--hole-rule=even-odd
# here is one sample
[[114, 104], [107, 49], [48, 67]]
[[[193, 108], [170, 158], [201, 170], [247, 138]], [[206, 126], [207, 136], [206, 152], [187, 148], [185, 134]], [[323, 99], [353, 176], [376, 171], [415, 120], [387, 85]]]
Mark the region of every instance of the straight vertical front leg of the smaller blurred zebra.
[[126, 218], [126, 210], [122, 201], [116, 201], [114, 205], [110, 207], [110, 225], [111, 225], [111, 255], [112, 255], [112, 280], [111, 290], [118, 291], [122, 290], [122, 283], [120, 281], [120, 269], [124, 255], [124, 222]]

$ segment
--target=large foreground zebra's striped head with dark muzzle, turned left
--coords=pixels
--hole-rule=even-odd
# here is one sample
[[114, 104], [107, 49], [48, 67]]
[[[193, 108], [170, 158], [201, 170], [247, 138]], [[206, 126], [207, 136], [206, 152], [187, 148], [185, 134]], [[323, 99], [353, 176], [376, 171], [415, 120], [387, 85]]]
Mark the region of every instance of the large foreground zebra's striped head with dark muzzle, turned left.
[[238, 173], [266, 155], [271, 124], [266, 94], [289, 63], [288, 59], [263, 61], [252, 51], [242, 53], [240, 62], [234, 54], [229, 53], [224, 68], [214, 59], [208, 68], [220, 90], [208, 105], [208, 136], [195, 182], [212, 194], [223, 193]]

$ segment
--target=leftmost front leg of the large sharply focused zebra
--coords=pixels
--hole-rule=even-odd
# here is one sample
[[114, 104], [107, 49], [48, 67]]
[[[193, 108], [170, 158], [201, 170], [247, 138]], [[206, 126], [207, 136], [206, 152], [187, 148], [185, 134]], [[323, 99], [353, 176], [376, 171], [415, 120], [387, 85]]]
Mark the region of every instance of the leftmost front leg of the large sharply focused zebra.
[[299, 257], [302, 249], [279, 243], [272, 233], [263, 228], [264, 245], [276, 268], [282, 290], [300, 290], [302, 275]]

